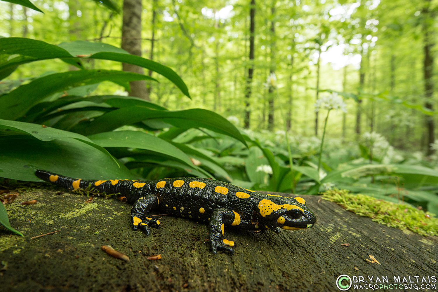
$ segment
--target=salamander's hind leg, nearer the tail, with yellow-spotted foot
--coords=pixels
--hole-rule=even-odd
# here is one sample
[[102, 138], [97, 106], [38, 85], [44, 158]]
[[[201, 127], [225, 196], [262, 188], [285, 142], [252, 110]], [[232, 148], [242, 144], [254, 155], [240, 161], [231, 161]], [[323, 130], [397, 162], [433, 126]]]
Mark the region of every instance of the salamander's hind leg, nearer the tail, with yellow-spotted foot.
[[151, 209], [157, 208], [158, 204], [159, 200], [155, 195], [141, 197], [134, 203], [131, 209], [131, 222], [134, 230], [140, 228], [146, 235], [149, 235], [151, 233], [150, 227], [160, 227], [158, 219], [146, 216], [146, 213]]

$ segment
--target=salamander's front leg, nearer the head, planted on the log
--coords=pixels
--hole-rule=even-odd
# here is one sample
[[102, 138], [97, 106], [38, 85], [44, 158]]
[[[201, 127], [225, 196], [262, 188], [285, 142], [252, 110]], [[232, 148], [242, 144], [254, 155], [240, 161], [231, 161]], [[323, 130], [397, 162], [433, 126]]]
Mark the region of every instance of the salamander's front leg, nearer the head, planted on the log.
[[239, 217], [240, 222], [240, 216], [230, 209], [220, 208], [213, 211], [208, 230], [208, 237], [212, 244], [213, 253], [216, 253], [217, 250], [226, 250], [231, 254], [234, 253], [232, 247], [236, 246], [236, 244], [224, 237], [224, 231], [226, 225], [235, 225], [233, 223], [236, 222], [236, 217]]

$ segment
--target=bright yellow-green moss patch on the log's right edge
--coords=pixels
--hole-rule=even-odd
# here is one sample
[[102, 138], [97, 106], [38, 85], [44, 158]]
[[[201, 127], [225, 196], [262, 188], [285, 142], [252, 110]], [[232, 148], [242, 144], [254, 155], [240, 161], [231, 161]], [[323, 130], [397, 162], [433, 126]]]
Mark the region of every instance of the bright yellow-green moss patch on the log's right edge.
[[348, 190], [328, 190], [322, 198], [335, 202], [348, 211], [360, 216], [370, 217], [390, 227], [409, 229], [424, 236], [438, 235], [438, 218], [406, 204], [395, 204], [378, 200], [362, 194], [349, 193]]

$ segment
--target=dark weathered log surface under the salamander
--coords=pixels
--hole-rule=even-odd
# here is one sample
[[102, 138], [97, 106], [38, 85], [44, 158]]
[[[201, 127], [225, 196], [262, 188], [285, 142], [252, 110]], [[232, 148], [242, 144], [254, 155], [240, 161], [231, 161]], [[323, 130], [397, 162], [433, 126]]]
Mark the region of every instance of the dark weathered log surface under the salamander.
[[[353, 283], [362, 286], [406, 277], [408, 283], [398, 285], [407, 289], [378, 289], [410, 291], [438, 274], [438, 237], [379, 225], [321, 196], [301, 196], [318, 218], [311, 229], [276, 234], [226, 228], [227, 239], [237, 244], [230, 255], [211, 252], [205, 224], [163, 215], [161, 228], [146, 236], [132, 230], [128, 204], [102, 197], [85, 203], [78, 193], [35, 186], [5, 205], [24, 238], [0, 229], [0, 291], [339, 291], [341, 274], [353, 281], [363, 276]], [[38, 202], [18, 204], [33, 199]], [[110, 256], [103, 245], [130, 261]], [[162, 258], [147, 259], [157, 254]]]

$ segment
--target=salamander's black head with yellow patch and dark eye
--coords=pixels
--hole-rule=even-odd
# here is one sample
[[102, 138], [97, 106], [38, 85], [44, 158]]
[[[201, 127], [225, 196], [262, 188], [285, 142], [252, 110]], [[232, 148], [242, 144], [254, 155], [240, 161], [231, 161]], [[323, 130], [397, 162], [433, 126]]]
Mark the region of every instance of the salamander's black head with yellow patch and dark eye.
[[258, 202], [258, 217], [272, 228], [295, 230], [312, 227], [316, 222], [313, 212], [306, 207], [303, 198], [268, 195]]

